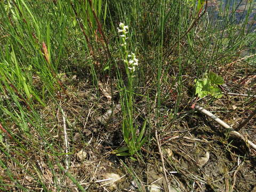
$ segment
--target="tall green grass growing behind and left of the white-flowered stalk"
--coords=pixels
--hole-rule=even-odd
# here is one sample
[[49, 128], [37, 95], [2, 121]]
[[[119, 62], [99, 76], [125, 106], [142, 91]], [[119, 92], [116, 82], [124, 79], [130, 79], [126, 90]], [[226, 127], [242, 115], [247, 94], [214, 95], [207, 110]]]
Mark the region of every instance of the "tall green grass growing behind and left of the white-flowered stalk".
[[[163, 128], [162, 109], [171, 107], [174, 118], [178, 118], [180, 106], [186, 106], [182, 103], [187, 90], [186, 77], [199, 78], [210, 69], [218, 70], [217, 63], [225, 65], [239, 50], [255, 45], [255, 36], [251, 35], [253, 27], [246, 24], [255, 7], [253, 1], [250, 3], [238, 24], [233, 22], [235, 11], [230, 14], [227, 3], [219, 13], [221, 22], [209, 22], [211, 15], [205, 14], [187, 33], [198, 9], [196, 4], [186, 1], [1, 1], [0, 165], [6, 178], [0, 178], [0, 189], [13, 187], [29, 191], [19, 181], [19, 169], [44, 191], [50, 191], [50, 186], [57, 191], [64, 190], [60, 180], [65, 175], [80, 190], [85, 190], [79, 185], [80, 181], [63, 168], [61, 159], [67, 155], [63, 139], [52, 137], [58, 135], [60, 122], [47, 119], [42, 113], [47, 109], [47, 113], [55, 117], [62, 109], [60, 101], [68, 102], [75, 94], [70, 93], [64, 74], [68, 78], [77, 75], [81, 81], [89, 79], [92, 89], [98, 87], [98, 81], [107, 81], [106, 75], [112, 78], [113, 85], [116, 78], [125, 78], [117, 76], [116, 69], [122, 73], [116, 30], [119, 22], [129, 25], [127, 49], [140, 61], [131, 87], [134, 114], [129, 121], [134, 119], [142, 125], [135, 117], [140, 116], [140, 110], [146, 111], [147, 116], [140, 118], [147, 119], [145, 133], [150, 143], [150, 127], [157, 127], [159, 131]], [[166, 91], [168, 89], [172, 91]], [[140, 109], [136, 100], [144, 98], [147, 107]], [[72, 128], [71, 123], [69, 126]], [[69, 153], [69, 157], [74, 158], [75, 152]], [[44, 183], [43, 174], [33, 160], [36, 157], [26, 154], [42, 156], [53, 175], [50, 186]]]

